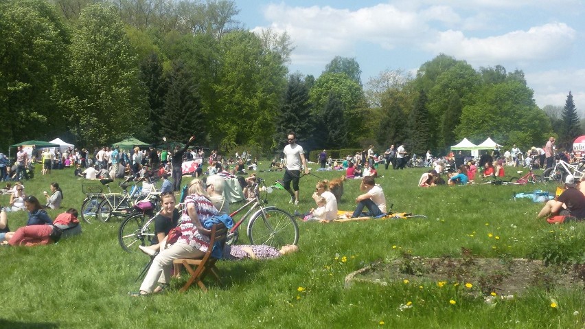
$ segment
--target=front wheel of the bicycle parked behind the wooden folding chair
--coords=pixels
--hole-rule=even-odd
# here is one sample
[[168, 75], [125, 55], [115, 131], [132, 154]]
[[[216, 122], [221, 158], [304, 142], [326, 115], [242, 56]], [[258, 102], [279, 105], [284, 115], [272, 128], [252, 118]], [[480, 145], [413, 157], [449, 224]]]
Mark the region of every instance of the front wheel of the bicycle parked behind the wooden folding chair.
[[[264, 216], [266, 214], [266, 216]], [[295, 218], [277, 208], [265, 208], [250, 219], [248, 237], [252, 245], [269, 245], [280, 249], [299, 242], [299, 227]]]

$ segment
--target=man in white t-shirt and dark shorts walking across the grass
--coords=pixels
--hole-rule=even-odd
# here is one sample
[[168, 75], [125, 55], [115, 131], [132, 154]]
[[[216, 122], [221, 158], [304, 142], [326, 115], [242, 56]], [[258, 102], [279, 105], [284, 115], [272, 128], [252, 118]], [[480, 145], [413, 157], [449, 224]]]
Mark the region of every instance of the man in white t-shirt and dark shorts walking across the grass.
[[[284, 146], [284, 179], [282, 185], [284, 189], [290, 194], [289, 203], [299, 204], [299, 179], [301, 178], [301, 170], [305, 168], [305, 174], [309, 173], [307, 161], [305, 159], [305, 152], [303, 147], [297, 144], [297, 134], [288, 133], [288, 145]], [[292, 190], [290, 190], [290, 182], [292, 182]], [[294, 190], [294, 192], [293, 192]]]

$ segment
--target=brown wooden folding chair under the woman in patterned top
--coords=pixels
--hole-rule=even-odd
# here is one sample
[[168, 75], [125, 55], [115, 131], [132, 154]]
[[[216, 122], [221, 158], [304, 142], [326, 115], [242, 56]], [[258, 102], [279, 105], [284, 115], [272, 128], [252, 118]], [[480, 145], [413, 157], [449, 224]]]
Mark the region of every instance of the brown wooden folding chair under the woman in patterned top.
[[225, 245], [225, 240], [227, 238], [227, 228], [223, 223], [219, 223], [211, 227], [211, 239], [209, 241], [209, 248], [205, 253], [205, 256], [200, 260], [194, 260], [189, 258], [183, 259], [176, 259], [173, 260], [173, 265], [176, 270], [181, 269], [181, 265], [185, 266], [187, 272], [191, 275], [187, 283], [181, 288], [181, 292], [187, 291], [187, 288], [193, 284], [193, 282], [197, 282], [197, 285], [205, 292], [207, 292], [207, 287], [203, 284], [203, 279], [207, 273], [211, 272], [214, 275], [216, 280], [219, 282], [220, 277], [218, 273], [218, 269], [216, 267], [217, 258], [211, 256], [211, 252], [214, 249], [214, 245], [218, 245], [218, 248], [223, 249]]

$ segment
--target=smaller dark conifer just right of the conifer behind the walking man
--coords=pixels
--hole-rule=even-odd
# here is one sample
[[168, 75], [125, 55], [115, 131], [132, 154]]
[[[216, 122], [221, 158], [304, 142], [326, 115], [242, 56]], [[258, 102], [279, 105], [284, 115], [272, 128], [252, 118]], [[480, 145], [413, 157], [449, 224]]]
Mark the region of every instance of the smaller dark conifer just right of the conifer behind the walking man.
[[330, 92], [321, 116], [326, 133], [323, 148], [341, 148], [347, 145], [347, 125], [343, 119], [343, 111], [341, 100], [333, 91]]

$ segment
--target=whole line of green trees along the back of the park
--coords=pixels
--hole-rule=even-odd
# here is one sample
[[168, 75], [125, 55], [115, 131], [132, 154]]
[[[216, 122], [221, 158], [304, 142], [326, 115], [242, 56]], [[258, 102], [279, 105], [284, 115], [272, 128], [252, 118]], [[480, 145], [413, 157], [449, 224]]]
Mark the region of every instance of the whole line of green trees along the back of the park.
[[338, 56], [315, 78], [288, 71], [288, 34], [249, 32], [238, 13], [227, 0], [3, 1], [0, 150], [57, 136], [95, 146], [195, 135], [268, 152], [295, 131], [308, 149], [420, 153], [463, 137], [529, 147], [581, 133], [571, 93], [545, 112], [520, 70], [441, 54], [416, 76], [388, 69], [364, 87], [355, 58]]

